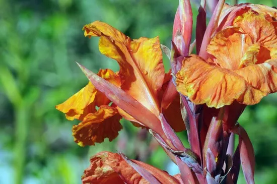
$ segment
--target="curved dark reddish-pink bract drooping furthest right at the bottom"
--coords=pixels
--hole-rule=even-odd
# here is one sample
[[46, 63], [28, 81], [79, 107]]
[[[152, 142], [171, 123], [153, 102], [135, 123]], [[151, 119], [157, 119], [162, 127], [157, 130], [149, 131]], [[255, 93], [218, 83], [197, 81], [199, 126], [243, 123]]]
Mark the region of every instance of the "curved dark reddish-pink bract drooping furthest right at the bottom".
[[254, 171], [255, 171], [255, 154], [252, 143], [248, 137], [246, 131], [239, 124], [235, 126], [231, 132], [239, 135], [239, 152], [241, 167], [244, 178], [247, 183], [254, 182]]

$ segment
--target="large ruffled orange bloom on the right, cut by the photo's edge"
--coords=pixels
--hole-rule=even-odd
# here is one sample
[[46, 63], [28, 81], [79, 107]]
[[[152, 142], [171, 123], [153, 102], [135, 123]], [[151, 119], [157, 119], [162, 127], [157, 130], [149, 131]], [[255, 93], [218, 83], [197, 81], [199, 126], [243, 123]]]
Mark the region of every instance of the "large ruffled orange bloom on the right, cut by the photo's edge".
[[177, 90], [193, 103], [220, 108], [236, 100], [252, 105], [277, 91], [276, 17], [268, 18], [276, 14], [259, 14], [251, 6], [244, 10], [212, 38], [206, 60], [196, 55], [183, 60]]

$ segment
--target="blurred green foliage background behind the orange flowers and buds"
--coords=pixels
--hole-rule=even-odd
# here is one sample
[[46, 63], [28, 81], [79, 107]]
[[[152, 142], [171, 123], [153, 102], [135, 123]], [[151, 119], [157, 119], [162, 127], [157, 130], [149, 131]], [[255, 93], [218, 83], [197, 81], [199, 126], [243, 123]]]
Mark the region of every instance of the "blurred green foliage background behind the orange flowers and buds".
[[[273, 2], [250, 1], [276, 6]], [[90, 156], [100, 151], [122, 151], [176, 173], [149, 135], [127, 121], [122, 121], [124, 129], [113, 142], [79, 147], [71, 132], [78, 121], [66, 120], [55, 105], [87, 84], [75, 61], [93, 72], [118, 70], [116, 62], [100, 54], [97, 38], [84, 37], [85, 24], [101, 20], [131, 38], [159, 35], [161, 43], [170, 46], [177, 4], [177, 0], [0, 0], [1, 184], [81, 183]], [[196, 5], [193, 13], [195, 20]], [[168, 60], [165, 65], [169, 69]], [[248, 106], [240, 118], [254, 145], [257, 183], [277, 183], [276, 104], [277, 95], [268, 95]], [[185, 134], [179, 135], [188, 145]], [[245, 183], [242, 173], [239, 183]]]

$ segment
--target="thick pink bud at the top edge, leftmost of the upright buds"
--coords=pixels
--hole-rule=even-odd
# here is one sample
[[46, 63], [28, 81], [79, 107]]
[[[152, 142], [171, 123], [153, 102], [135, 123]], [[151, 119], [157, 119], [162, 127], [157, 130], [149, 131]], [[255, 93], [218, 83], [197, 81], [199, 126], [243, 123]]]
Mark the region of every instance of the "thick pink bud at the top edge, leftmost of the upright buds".
[[192, 33], [192, 10], [189, 0], [179, 0], [179, 6], [175, 15], [174, 25], [173, 25], [173, 41], [175, 42], [175, 37], [177, 31], [180, 30], [181, 35], [185, 42], [185, 50], [181, 53], [186, 55], [189, 50], [189, 44], [191, 41]]

